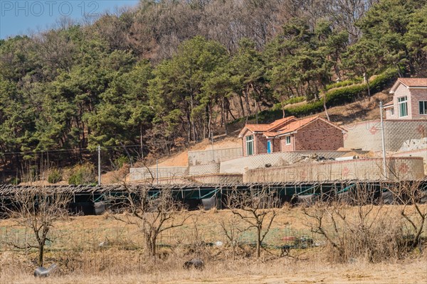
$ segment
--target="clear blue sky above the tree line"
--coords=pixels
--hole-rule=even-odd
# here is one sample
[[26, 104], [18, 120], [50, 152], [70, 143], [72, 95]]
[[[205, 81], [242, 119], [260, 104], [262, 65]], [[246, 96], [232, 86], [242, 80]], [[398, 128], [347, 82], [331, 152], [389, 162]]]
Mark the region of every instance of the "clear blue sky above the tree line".
[[58, 18], [80, 20], [115, 7], [136, 6], [139, 0], [0, 0], [0, 39], [47, 30]]

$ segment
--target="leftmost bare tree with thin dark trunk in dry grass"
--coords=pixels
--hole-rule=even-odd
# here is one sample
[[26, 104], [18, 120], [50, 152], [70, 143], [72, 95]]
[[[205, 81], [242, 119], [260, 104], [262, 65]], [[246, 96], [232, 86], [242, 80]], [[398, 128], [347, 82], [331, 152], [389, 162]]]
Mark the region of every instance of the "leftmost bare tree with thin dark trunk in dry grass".
[[56, 192], [48, 187], [15, 188], [11, 196], [4, 197], [1, 204], [8, 217], [20, 226], [28, 228], [36, 241], [26, 244], [10, 243], [18, 249], [38, 249], [38, 266], [43, 266], [43, 253], [54, 222], [68, 216], [70, 194]]

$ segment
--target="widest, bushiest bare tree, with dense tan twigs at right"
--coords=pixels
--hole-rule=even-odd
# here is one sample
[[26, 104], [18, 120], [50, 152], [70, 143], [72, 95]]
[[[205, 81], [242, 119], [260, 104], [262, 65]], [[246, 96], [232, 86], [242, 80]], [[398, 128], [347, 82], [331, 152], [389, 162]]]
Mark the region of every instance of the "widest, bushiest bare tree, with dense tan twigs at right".
[[374, 187], [355, 185], [345, 200], [318, 201], [303, 212], [307, 226], [325, 238], [335, 260], [362, 257], [376, 262], [404, 252], [401, 220], [377, 201]]

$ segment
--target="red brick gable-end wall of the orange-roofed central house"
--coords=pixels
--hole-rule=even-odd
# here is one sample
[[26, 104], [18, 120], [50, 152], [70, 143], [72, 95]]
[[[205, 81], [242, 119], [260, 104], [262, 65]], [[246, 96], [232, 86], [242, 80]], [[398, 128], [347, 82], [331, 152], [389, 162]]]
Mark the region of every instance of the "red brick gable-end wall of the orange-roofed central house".
[[320, 119], [298, 130], [294, 136], [296, 151], [337, 150], [344, 146], [342, 131]]

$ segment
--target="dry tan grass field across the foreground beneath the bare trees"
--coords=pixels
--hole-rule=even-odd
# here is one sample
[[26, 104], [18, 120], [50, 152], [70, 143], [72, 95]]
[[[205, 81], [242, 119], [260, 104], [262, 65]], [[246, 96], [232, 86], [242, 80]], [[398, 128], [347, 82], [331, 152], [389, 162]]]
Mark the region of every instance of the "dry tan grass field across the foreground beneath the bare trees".
[[[399, 206], [375, 210], [388, 219], [399, 218]], [[357, 219], [357, 212], [357, 207], [347, 208], [350, 219]], [[189, 218], [184, 226], [162, 234], [158, 244], [164, 246], [157, 258], [145, 253], [138, 227], [118, 221], [116, 215], [68, 217], [51, 231], [45, 263], [59, 268], [44, 279], [33, 277], [36, 250], [8, 245], [24, 244], [31, 234], [16, 220], [4, 219], [0, 221], [0, 283], [427, 283], [425, 244], [404, 257], [336, 261], [325, 239], [310, 231], [311, 221], [302, 208], [284, 207], [277, 214], [265, 240], [268, 249], [259, 259], [250, 246], [233, 254], [227, 245], [221, 223], [233, 219], [230, 210], [180, 213], [179, 217]], [[243, 224], [236, 227], [242, 229]], [[290, 249], [289, 256], [280, 257], [278, 248], [285, 236], [307, 236], [320, 245]], [[253, 232], [245, 231], [241, 239], [251, 241]], [[212, 245], [217, 241], [222, 245]], [[204, 270], [183, 268], [184, 261], [194, 257], [204, 259]]]

